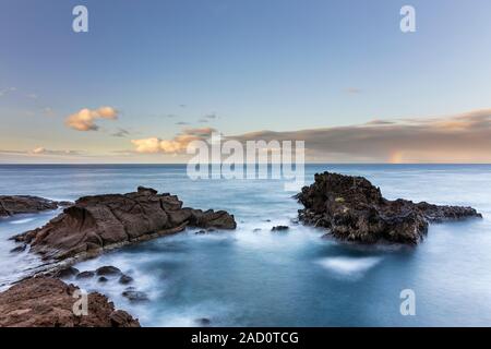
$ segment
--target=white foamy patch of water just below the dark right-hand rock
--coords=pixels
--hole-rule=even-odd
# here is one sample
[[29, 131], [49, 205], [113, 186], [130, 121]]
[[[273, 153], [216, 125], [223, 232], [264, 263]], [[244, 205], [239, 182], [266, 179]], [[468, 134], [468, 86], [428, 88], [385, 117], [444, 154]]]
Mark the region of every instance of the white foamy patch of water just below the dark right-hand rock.
[[382, 261], [382, 257], [326, 257], [318, 264], [338, 276], [360, 277]]

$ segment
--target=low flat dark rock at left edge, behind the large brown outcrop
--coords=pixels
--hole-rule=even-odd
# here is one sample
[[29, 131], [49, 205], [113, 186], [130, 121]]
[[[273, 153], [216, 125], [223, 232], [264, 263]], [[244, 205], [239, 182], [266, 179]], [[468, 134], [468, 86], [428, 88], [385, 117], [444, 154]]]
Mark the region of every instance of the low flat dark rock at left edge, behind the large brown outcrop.
[[68, 202], [56, 202], [38, 196], [0, 195], [0, 217], [57, 209], [69, 204]]

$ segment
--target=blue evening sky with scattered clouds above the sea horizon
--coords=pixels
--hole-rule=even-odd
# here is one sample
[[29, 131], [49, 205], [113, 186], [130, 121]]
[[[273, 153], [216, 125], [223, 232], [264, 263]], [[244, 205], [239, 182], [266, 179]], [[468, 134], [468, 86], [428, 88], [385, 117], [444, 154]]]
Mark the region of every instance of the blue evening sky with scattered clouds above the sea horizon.
[[0, 163], [181, 163], [212, 132], [302, 140], [308, 161], [491, 163], [490, 16], [489, 0], [0, 0]]

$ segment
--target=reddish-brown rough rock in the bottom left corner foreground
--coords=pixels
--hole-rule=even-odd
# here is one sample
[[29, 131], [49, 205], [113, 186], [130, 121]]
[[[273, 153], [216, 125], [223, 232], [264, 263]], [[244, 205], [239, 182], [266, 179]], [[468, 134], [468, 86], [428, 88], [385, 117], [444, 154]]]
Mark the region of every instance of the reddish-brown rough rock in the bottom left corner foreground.
[[115, 310], [97, 292], [87, 296], [86, 315], [76, 315], [79, 288], [60, 279], [25, 279], [0, 293], [0, 327], [139, 327], [130, 314]]

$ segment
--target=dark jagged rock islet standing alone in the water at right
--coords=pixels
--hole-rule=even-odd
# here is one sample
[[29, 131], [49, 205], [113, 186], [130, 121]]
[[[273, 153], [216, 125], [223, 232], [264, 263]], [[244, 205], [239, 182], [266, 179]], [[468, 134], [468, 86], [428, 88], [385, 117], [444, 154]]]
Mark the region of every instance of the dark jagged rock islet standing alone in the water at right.
[[390, 201], [362, 177], [330, 172], [315, 174], [315, 182], [304, 186], [297, 198], [306, 207], [299, 210], [302, 222], [325, 227], [343, 240], [367, 243], [416, 244], [427, 233], [429, 222], [482, 217], [471, 207]]

